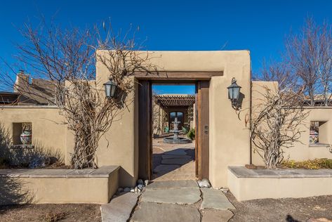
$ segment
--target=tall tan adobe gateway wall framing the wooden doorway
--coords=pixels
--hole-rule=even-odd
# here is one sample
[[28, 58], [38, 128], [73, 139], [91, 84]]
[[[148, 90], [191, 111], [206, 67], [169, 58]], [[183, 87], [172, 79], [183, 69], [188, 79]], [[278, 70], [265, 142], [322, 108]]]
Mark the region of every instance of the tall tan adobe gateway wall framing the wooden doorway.
[[[99, 51], [98, 53], [104, 53]], [[159, 71], [178, 72], [220, 72], [223, 77], [212, 77], [210, 84], [210, 180], [214, 187], [227, 185], [227, 166], [243, 165], [250, 162], [250, 140], [246, 130], [245, 118], [250, 112], [251, 98], [251, 62], [248, 51], [149, 51], [150, 62]], [[142, 52], [142, 56], [146, 54]], [[107, 81], [108, 70], [97, 63], [97, 79], [100, 84]], [[227, 98], [227, 86], [232, 78], [242, 87], [244, 94], [243, 111], [239, 114], [232, 108]], [[102, 159], [109, 164], [124, 167], [128, 176], [137, 175], [138, 147], [137, 137], [137, 103], [130, 107], [126, 118], [120, 120], [131, 124], [119, 124], [111, 129], [112, 154], [101, 150]], [[126, 120], [124, 120], [126, 119]], [[119, 122], [119, 123], [120, 123]], [[135, 123], [135, 125], [132, 125]], [[120, 127], [121, 126], [121, 127]], [[124, 127], [124, 128], [123, 128]], [[121, 133], [119, 132], [121, 131]], [[125, 133], [125, 134], [124, 134]], [[117, 135], [118, 137], [116, 137]], [[126, 140], [121, 140], [126, 135]], [[106, 142], [105, 142], [106, 144]], [[100, 143], [101, 147], [105, 146]], [[114, 152], [113, 152], [114, 151]], [[104, 161], [103, 161], [104, 162]]]

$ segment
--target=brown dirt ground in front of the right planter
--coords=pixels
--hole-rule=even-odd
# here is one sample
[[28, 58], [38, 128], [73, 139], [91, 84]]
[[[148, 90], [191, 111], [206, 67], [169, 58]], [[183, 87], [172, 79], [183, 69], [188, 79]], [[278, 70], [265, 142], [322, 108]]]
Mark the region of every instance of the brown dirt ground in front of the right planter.
[[263, 199], [237, 202], [228, 192], [236, 208], [230, 221], [307, 221], [310, 218], [332, 219], [332, 195], [306, 198]]

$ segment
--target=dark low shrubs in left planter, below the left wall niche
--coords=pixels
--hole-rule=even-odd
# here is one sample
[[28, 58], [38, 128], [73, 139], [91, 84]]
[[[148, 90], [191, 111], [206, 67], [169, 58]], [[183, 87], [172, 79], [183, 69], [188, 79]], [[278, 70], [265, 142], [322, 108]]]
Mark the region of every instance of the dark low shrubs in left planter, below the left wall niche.
[[[34, 159], [49, 157], [50, 162], [64, 162], [62, 153], [54, 148], [46, 148], [38, 140], [32, 141], [34, 148], [11, 148], [11, 134], [0, 124], [0, 168], [4, 166], [28, 167]], [[1, 164], [2, 162], [2, 164]]]

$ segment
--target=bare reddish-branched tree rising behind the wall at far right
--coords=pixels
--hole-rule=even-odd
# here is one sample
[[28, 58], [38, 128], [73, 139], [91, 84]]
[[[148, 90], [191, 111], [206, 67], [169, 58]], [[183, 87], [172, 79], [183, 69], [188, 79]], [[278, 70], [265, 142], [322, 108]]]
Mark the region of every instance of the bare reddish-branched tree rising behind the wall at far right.
[[331, 26], [327, 23], [317, 25], [307, 18], [302, 32], [286, 39], [286, 60], [294, 75], [303, 84], [309, 105], [323, 98], [322, 104], [328, 105], [331, 97]]

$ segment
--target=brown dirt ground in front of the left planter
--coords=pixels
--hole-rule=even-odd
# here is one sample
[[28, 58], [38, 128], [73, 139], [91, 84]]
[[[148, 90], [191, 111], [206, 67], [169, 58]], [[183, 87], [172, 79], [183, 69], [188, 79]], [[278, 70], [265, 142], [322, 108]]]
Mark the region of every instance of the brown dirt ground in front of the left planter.
[[99, 204], [0, 206], [0, 221], [101, 221]]

